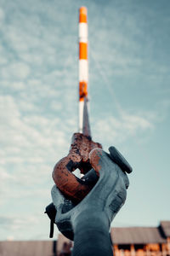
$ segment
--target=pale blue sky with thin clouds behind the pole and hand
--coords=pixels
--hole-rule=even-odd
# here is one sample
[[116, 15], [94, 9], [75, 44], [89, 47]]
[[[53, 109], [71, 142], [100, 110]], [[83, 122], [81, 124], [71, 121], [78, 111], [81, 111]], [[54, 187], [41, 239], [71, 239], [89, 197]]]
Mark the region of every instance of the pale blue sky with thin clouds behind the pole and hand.
[[170, 1], [0, 0], [0, 240], [48, 240], [52, 171], [78, 130], [81, 6], [92, 136], [133, 166], [111, 225], [170, 220]]

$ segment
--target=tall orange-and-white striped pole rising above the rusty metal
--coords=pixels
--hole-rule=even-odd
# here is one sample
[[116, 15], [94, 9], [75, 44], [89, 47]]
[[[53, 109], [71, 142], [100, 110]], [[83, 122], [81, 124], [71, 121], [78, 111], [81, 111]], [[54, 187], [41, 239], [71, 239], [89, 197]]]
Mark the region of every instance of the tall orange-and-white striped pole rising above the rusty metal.
[[83, 132], [84, 102], [88, 102], [88, 10], [86, 7], [81, 7], [79, 9], [79, 132]]

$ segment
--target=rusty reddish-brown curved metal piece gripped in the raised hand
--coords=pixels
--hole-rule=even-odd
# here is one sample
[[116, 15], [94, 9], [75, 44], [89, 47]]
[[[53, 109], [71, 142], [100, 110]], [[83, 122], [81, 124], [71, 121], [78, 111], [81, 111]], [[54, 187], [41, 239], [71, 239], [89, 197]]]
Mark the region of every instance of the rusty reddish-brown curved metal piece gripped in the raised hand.
[[82, 174], [86, 174], [92, 169], [89, 153], [94, 148], [102, 148], [102, 146], [99, 143], [94, 143], [91, 137], [85, 136], [82, 133], [74, 133], [69, 154], [59, 160], [54, 166], [52, 175], [54, 183], [66, 197], [71, 198], [73, 201], [82, 201], [94, 186], [85, 183], [72, 173], [77, 168]]

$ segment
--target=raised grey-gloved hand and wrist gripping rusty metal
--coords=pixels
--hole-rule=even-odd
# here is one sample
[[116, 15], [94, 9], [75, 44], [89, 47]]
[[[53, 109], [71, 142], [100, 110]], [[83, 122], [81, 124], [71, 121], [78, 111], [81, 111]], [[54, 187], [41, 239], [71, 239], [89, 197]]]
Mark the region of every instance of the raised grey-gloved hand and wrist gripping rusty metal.
[[116, 148], [109, 151], [94, 148], [90, 152], [93, 169], [88, 179], [99, 175], [99, 180], [79, 204], [65, 199], [56, 185], [52, 189], [55, 223], [64, 236], [74, 240], [73, 256], [112, 255], [111, 221], [126, 200], [129, 182], [125, 172], [132, 172], [132, 168]]

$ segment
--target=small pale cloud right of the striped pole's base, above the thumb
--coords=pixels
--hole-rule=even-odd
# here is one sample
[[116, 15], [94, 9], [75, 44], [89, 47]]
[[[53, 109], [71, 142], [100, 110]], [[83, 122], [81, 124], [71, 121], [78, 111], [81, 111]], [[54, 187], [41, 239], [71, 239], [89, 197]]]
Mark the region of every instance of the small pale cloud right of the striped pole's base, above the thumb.
[[105, 118], [96, 119], [94, 124], [94, 135], [99, 141], [102, 138], [105, 144], [123, 143], [127, 139], [137, 139], [148, 134], [155, 128], [156, 119], [150, 119], [148, 113], [130, 114], [122, 113], [119, 118], [106, 115]]

